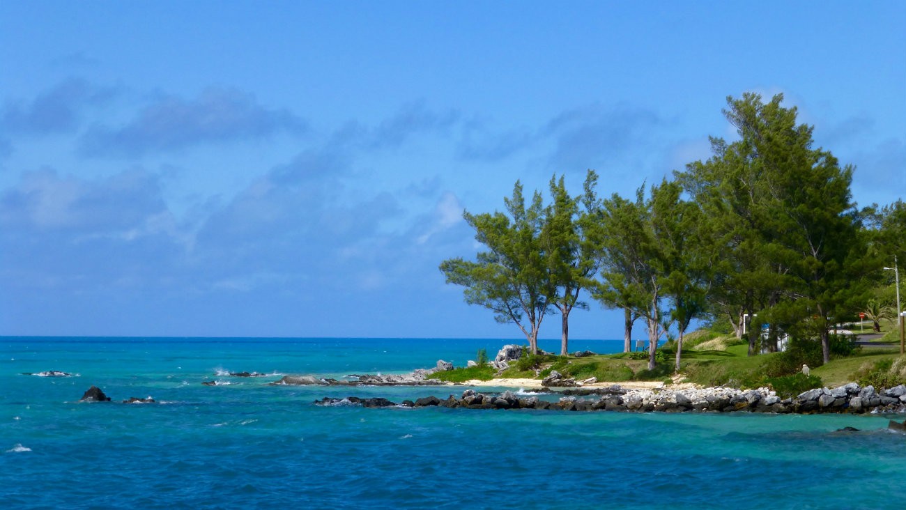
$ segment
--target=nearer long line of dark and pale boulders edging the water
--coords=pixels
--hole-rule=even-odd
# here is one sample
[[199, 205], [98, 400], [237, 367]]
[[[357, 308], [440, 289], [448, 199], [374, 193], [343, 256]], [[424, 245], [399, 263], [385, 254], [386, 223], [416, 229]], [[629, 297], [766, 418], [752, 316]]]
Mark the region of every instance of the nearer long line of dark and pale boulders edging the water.
[[[554, 394], [551, 391], [551, 394]], [[352, 405], [364, 407], [429, 407], [465, 409], [553, 409], [565, 411], [623, 411], [623, 412], [766, 412], [776, 414], [815, 413], [906, 413], [906, 385], [877, 391], [850, 383], [839, 388], [808, 390], [793, 399], [781, 399], [773, 390], [736, 390], [705, 388], [686, 390], [625, 390], [618, 385], [599, 390], [565, 390], [556, 401], [537, 396], [517, 397], [512, 391], [481, 393], [465, 390], [456, 398], [423, 397], [403, 400], [400, 404], [388, 399], [325, 397], [315, 400], [318, 405]]]

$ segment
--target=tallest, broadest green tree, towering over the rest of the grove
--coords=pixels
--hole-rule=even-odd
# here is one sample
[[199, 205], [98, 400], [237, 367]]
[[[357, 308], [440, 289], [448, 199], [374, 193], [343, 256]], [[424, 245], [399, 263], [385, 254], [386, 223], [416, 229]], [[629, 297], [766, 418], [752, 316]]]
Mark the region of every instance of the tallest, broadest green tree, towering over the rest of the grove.
[[[811, 322], [829, 361], [828, 327], [861, 299], [866, 261], [851, 203], [852, 167], [814, 149], [813, 128], [796, 124], [796, 109], [778, 94], [728, 98], [724, 111], [740, 140], [712, 139], [714, 157], [680, 178], [707, 217], [714, 218], [719, 267], [716, 297], [729, 313]], [[741, 317], [740, 317], [741, 319]], [[749, 354], [756, 328], [750, 328]]]

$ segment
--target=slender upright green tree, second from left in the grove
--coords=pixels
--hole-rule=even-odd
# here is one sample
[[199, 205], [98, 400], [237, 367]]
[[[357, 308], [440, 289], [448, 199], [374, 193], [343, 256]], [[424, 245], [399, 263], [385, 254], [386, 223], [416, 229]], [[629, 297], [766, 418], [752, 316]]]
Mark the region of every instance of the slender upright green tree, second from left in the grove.
[[545, 208], [541, 239], [551, 287], [555, 291], [550, 301], [561, 316], [562, 356], [569, 353], [569, 314], [574, 307], [588, 308], [586, 303], [579, 301], [579, 293], [597, 271], [593, 245], [587, 236], [588, 224], [581, 220], [585, 215], [580, 213], [580, 204], [586, 207], [593, 204], [596, 182], [597, 175], [589, 170], [583, 197], [570, 197], [563, 177], [557, 180], [554, 176], [550, 182], [552, 202]]

